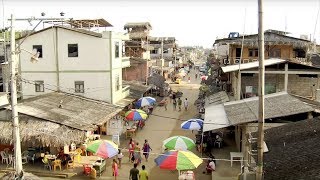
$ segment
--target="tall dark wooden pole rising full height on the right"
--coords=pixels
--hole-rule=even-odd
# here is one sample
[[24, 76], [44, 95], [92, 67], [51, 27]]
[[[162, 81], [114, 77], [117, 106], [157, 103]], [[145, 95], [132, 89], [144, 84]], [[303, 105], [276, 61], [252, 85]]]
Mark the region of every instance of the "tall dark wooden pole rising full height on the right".
[[258, 164], [256, 180], [263, 179], [263, 145], [264, 145], [264, 31], [262, 0], [258, 0], [258, 44], [259, 44], [259, 117], [258, 117]]

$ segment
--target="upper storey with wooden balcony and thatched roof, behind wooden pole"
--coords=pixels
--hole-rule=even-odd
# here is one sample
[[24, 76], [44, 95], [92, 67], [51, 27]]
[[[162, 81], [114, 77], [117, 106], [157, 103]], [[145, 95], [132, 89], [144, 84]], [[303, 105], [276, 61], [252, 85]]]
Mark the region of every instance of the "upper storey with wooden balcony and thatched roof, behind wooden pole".
[[[311, 47], [309, 40], [287, 36], [281, 31], [267, 30], [265, 32], [265, 58], [281, 58], [299, 63], [307, 62], [307, 52]], [[243, 45], [243, 50], [241, 49]], [[223, 64], [238, 64], [258, 60], [258, 34], [243, 36], [229, 36], [217, 39], [214, 43], [216, 49], [220, 50], [223, 58], [227, 59]], [[242, 55], [242, 57], [241, 57]]]

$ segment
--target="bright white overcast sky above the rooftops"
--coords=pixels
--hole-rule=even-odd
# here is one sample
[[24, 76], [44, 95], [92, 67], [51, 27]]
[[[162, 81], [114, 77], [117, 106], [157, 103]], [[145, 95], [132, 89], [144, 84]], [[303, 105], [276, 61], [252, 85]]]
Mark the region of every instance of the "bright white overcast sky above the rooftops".
[[[133, 2], [134, 1], [134, 2]], [[179, 45], [212, 47], [214, 40], [229, 32], [257, 33], [257, 0], [3, 0], [5, 18], [59, 17], [104, 18], [115, 31], [127, 22], [151, 23], [153, 36], [174, 36]], [[293, 36], [312, 35], [320, 40], [316, 26], [319, 0], [264, 0], [264, 29], [291, 32]], [[0, 9], [2, 11], [2, 8]], [[246, 12], [246, 13], [245, 13]], [[246, 18], [245, 18], [246, 14]], [[2, 16], [2, 13], [0, 14]], [[320, 18], [319, 18], [320, 20]], [[7, 23], [7, 21], [6, 21]], [[35, 23], [34, 23], [35, 24]], [[2, 23], [1, 23], [2, 25]], [[20, 29], [32, 29], [19, 23]]]

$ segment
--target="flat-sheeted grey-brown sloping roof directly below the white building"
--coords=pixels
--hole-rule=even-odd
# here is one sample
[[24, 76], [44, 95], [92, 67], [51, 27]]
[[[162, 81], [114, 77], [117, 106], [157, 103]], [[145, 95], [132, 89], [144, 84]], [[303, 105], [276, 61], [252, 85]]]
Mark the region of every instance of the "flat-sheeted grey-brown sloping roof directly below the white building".
[[55, 92], [18, 103], [20, 114], [86, 131], [107, 122], [121, 110], [110, 103]]

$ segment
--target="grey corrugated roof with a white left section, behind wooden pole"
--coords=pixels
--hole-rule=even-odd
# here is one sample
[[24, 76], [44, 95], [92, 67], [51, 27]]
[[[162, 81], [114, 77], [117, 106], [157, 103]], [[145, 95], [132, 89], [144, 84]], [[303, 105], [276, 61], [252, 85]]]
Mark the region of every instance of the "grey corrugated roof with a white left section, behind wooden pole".
[[[258, 120], [258, 97], [206, 107], [203, 129], [210, 131]], [[221, 110], [223, 112], [221, 112]], [[286, 92], [265, 96], [265, 119], [312, 112], [314, 108]], [[226, 116], [221, 116], [221, 114]], [[206, 123], [208, 122], [208, 123]], [[207, 126], [207, 127], [206, 127]]]

